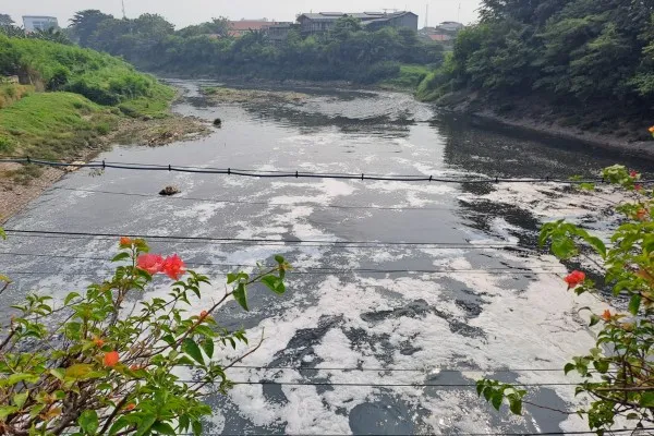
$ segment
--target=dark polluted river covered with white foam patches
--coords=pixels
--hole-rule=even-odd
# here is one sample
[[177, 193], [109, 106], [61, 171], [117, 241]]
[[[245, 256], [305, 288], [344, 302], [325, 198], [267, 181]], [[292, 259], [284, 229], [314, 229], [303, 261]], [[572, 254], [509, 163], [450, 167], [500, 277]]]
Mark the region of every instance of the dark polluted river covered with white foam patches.
[[[568, 178], [594, 174], [616, 161], [638, 170], [646, 165], [584, 144], [443, 114], [403, 94], [302, 88], [308, 95], [303, 102], [214, 106], [198, 94], [199, 82], [172, 82], [184, 90], [175, 111], [219, 117], [222, 128], [164, 147], [117, 146], [99, 159], [441, 178]], [[159, 197], [166, 185], [182, 193]], [[577, 312], [593, 303], [567, 292], [560, 278], [565, 267], [532, 249], [538, 226], [549, 219], [585, 220], [602, 230], [598, 210], [606, 203], [597, 198], [552, 184], [108, 169], [66, 175], [7, 228], [356, 242], [150, 241], [155, 252], [205, 264], [195, 268], [214, 280], [205, 303], [223, 291], [225, 272], [234, 269], [206, 264], [255, 265], [280, 253], [296, 268], [286, 295], [253, 289], [251, 312], [233, 302], [223, 307], [221, 325], [244, 327], [252, 340], [265, 329], [262, 348], [242, 364], [267, 368], [230, 371], [232, 379], [254, 383], [209, 398], [216, 413], [207, 434], [585, 431], [578, 416], [531, 405], [523, 417], [504, 409], [497, 413], [470, 385], [482, 375], [540, 385], [528, 388], [530, 401], [574, 407], [573, 387], [565, 385], [574, 379], [560, 368], [593, 347]], [[360, 243], [371, 241], [417, 244]], [[108, 263], [65, 256], [108, 258], [116, 244], [11, 234], [0, 265], [16, 281], [3, 306], [28, 290], [61, 298], [106, 277]], [[165, 292], [165, 286], [158, 279], [145, 298]]]

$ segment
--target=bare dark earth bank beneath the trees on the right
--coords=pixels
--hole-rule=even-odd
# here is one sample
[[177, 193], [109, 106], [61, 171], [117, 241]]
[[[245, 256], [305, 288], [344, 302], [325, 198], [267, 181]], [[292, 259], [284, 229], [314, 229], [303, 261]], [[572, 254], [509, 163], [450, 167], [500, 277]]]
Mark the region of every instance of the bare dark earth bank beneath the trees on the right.
[[592, 119], [592, 114], [585, 114], [584, 120], [564, 125], [569, 118], [542, 102], [537, 109], [532, 110], [528, 109], [528, 101], [523, 101], [522, 105], [507, 102], [500, 107], [467, 93], [446, 95], [438, 99], [436, 105], [447, 111], [468, 114], [487, 123], [498, 123], [498, 126], [504, 126], [505, 130], [520, 129], [549, 137], [576, 140], [626, 156], [654, 161], [654, 142], [647, 134], [647, 128], [644, 124], [639, 126], [629, 120], [616, 121], [610, 126], [607, 125], [609, 122], [595, 122], [591, 126], [588, 120]]

